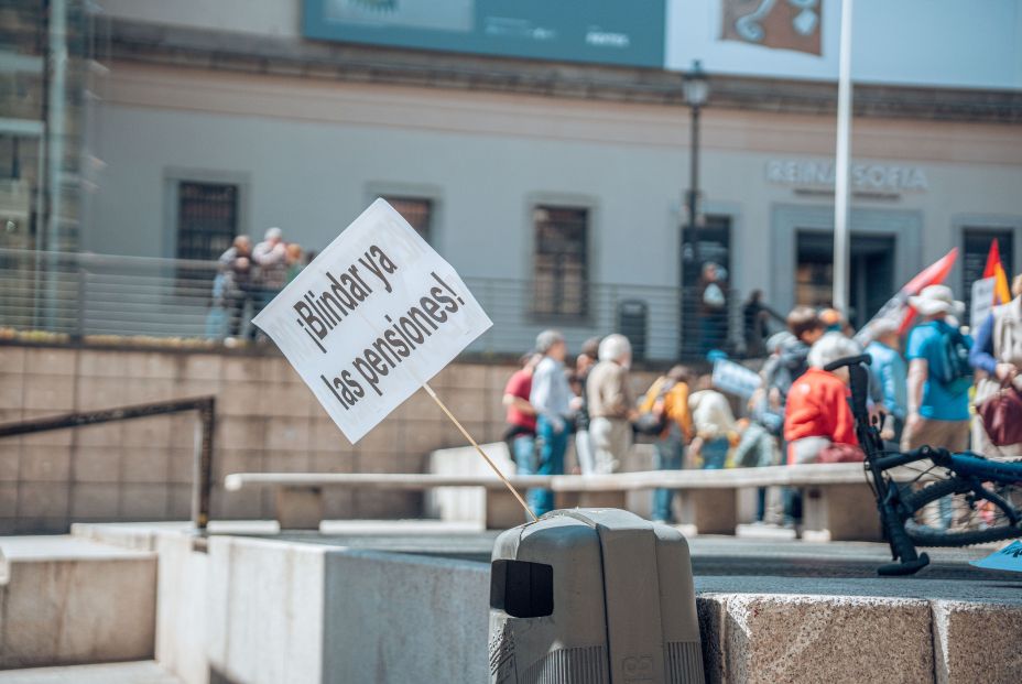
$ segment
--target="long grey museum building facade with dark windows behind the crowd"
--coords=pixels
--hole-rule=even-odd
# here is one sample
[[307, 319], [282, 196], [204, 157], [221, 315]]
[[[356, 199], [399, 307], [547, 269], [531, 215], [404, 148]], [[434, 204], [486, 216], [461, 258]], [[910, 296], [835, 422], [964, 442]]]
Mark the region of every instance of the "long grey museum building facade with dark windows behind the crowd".
[[[318, 250], [382, 196], [502, 324], [480, 349], [551, 323], [577, 344], [638, 306], [646, 355], [672, 358], [697, 261], [733, 297], [829, 301], [830, 82], [707, 65], [692, 228], [676, 72], [313, 40], [298, 0], [100, 4], [81, 250], [215, 259], [271, 226]], [[862, 84], [855, 112], [854, 322], [956, 247], [960, 297], [992, 238], [1018, 272], [1022, 89]]]

